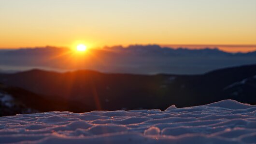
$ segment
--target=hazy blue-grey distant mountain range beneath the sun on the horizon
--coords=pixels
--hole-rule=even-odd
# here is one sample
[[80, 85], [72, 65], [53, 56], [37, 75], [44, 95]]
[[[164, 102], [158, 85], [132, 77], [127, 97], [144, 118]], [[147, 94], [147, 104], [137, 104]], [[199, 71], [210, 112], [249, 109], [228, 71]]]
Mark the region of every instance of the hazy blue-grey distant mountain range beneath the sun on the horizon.
[[89, 49], [76, 55], [68, 48], [23, 48], [0, 50], [0, 70], [47, 68], [56, 71], [94, 70], [112, 73], [175, 73], [205, 72], [256, 64], [256, 51], [228, 53], [217, 48], [161, 48], [158, 45], [133, 45]]

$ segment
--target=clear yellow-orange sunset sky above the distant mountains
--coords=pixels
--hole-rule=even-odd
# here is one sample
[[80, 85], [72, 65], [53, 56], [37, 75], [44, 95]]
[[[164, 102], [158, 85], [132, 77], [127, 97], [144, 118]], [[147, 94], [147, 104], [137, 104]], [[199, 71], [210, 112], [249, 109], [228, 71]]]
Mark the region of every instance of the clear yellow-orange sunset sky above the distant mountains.
[[256, 0], [0, 0], [0, 48], [255, 45]]

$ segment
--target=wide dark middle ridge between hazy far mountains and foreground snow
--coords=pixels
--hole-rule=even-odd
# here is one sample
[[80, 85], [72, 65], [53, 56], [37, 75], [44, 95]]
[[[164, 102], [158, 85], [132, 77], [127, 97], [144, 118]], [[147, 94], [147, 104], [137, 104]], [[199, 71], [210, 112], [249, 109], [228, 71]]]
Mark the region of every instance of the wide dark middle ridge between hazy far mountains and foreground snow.
[[0, 92], [39, 111], [166, 109], [223, 99], [256, 104], [256, 65], [200, 75], [140, 75], [32, 70], [0, 74]]

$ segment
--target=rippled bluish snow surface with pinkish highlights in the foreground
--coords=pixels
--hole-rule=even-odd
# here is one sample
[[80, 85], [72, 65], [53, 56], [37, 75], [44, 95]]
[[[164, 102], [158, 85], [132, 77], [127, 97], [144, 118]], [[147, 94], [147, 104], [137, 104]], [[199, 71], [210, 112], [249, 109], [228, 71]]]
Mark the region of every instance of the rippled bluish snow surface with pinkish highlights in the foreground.
[[256, 106], [224, 100], [165, 111], [45, 112], [0, 117], [0, 143], [256, 143]]

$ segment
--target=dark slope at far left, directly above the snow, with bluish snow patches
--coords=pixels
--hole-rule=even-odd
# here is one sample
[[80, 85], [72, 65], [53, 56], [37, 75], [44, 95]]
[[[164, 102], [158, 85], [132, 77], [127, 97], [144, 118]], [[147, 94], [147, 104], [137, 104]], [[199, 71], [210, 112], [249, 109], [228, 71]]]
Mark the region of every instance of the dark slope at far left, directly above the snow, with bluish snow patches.
[[21, 113], [36, 113], [51, 110], [60, 111], [91, 111], [93, 108], [79, 106], [72, 103], [55, 99], [54, 97], [38, 95], [22, 88], [0, 84], [0, 117]]

